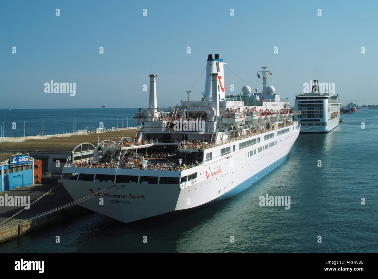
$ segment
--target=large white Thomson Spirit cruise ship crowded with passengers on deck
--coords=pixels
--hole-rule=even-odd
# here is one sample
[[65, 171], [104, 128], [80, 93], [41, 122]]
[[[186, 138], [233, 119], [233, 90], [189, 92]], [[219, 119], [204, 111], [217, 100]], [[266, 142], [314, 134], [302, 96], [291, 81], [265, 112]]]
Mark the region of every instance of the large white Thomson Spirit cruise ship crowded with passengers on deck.
[[135, 138], [104, 141], [90, 163], [66, 164], [64, 187], [79, 205], [125, 223], [238, 194], [285, 161], [300, 130], [287, 100], [266, 86], [266, 67], [262, 73], [261, 93], [245, 86], [247, 102], [230, 100], [223, 59], [210, 54], [203, 98], [174, 107], [158, 107], [150, 74]]

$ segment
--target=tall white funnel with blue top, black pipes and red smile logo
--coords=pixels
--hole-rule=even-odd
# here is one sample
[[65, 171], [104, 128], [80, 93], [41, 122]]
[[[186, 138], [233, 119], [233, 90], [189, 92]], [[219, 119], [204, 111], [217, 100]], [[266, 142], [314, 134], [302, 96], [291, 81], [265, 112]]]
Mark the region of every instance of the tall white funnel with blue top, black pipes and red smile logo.
[[225, 74], [223, 70], [223, 59], [219, 59], [219, 54], [215, 54], [215, 59], [212, 59], [212, 54], [209, 54], [209, 58], [206, 64], [206, 83], [205, 83], [205, 94], [204, 98], [207, 98], [208, 101], [211, 101], [212, 98], [212, 73], [217, 73], [217, 96], [218, 100], [225, 100]]

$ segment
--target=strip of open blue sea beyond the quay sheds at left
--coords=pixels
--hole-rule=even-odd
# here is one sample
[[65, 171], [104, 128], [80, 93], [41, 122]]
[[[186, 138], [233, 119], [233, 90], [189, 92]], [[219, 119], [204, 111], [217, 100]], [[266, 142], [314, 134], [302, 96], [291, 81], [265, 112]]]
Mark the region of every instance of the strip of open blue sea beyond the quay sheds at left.
[[[136, 126], [133, 116], [138, 108], [106, 108], [104, 109], [105, 129], [112, 127], [132, 127]], [[123, 126], [122, 126], [123, 118]], [[129, 122], [127, 122], [129, 118]], [[42, 124], [45, 121], [45, 135], [72, 133], [75, 130], [90, 130], [91, 121], [92, 129], [99, 128], [102, 122], [102, 107], [100, 108], [61, 108], [61, 109], [12, 109], [0, 110], [0, 126], [5, 130], [4, 135], [7, 136], [23, 136], [24, 121], [25, 134], [35, 136], [37, 133], [42, 134]], [[75, 119], [73, 121], [72, 119]], [[117, 126], [118, 119], [118, 126]], [[65, 121], [63, 123], [63, 121]], [[14, 126], [13, 122], [16, 123]], [[64, 124], [64, 129], [63, 129]], [[16, 129], [12, 129], [15, 127]], [[1, 129], [0, 129], [1, 131]]]

